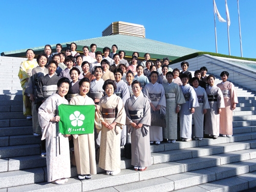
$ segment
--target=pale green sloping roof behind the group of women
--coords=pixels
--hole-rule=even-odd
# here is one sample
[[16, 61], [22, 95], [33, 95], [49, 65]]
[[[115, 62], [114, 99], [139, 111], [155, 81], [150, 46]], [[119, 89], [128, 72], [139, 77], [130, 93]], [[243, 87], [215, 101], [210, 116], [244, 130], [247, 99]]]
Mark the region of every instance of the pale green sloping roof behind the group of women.
[[[63, 46], [62, 51], [65, 50], [67, 45], [69, 45], [71, 42], [72, 41], [62, 43], [61, 44]], [[113, 44], [116, 44], [118, 47], [118, 50], [124, 50], [126, 52], [126, 56], [131, 56], [134, 51], [137, 51], [140, 53], [140, 57], [143, 57], [144, 53], [150, 53], [151, 58], [155, 58], [155, 59], [156, 58], [162, 59], [163, 57], [169, 57], [170, 60], [174, 60], [184, 55], [199, 52], [199, 50], [167, 44], [161, 41], [156, 41], [156, 40], [136, 37], [136, 36], [130, 36], [130, 35], [121, 35], [121, 34], [84, 39], [84, 40], [76, 40], [73, 42], [75, 42], [78, 45], [77, 51], [81, 51], [81, 48], [83, 46], [89, 47], [91, 44], [97, 45], [97, 51], [102, 51], [104, 47], [111, 48]], [[55, 48], [55, 45], [52, 45], [52, 47]], [[36, 47], [32, 49], [36, 52], [37, 51], [41, 52], [42, 50], [44, 50], [44, 46]], [[1, 55], [4, 54], [6, 56], [15, 56], [15, 55], [20, 56], [20, 53], [24, 53], [24, 52], [26, 52], [25, 49], [4, 52]]]

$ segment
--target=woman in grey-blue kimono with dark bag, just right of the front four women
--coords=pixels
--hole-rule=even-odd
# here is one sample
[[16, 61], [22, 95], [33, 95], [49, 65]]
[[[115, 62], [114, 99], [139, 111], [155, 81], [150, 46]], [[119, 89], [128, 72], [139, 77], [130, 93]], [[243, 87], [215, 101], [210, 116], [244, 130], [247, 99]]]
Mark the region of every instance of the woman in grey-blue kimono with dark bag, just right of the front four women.
[[[146, 84], [143, 93], [150, 102], [151, 113], [154, 111], [160, 111], [162, 115], [165, 115], [165, 96], [162, 84], [157, 82], [158, 72], [152, 71], [151, 82]], [[154, 141], [158, 145], [163, 140], [163, 131], [161, 126], [150, 126], [150, 143]]]

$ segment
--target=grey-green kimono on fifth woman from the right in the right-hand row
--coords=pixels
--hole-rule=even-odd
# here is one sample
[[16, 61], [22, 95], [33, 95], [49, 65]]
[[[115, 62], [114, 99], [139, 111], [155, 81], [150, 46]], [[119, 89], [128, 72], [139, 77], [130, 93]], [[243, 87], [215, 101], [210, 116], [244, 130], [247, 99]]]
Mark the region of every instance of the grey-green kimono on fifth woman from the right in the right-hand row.
[[176, 140], [178, 125], [178, 114], [176, 113], [176, 108], [178, 104], [183, 104], [186, 101], [178, 84], [174, 82], [169, 84], [167, 82], [163, 84], [163, 88], [166, 99], [166, 127], [163, 127], [163, 138]]

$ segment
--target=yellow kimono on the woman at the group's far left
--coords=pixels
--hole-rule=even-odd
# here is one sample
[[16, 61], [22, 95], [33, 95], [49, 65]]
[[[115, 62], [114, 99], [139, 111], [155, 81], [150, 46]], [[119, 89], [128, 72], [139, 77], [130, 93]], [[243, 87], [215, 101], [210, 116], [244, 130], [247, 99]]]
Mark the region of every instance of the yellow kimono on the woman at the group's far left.
[[31, 115], [31, 103], [27, 94], [25, 93], [28, 78], [32, 72], [32, 69], [37, 67], [38, 64], [36, 60], [25, 60], [20, 63], [19, 71], [18, 71], [18, 78], [20, 80], [20, 85], [22, 86], [22, 95], [23, 95], [23, 114], [24, 115]]

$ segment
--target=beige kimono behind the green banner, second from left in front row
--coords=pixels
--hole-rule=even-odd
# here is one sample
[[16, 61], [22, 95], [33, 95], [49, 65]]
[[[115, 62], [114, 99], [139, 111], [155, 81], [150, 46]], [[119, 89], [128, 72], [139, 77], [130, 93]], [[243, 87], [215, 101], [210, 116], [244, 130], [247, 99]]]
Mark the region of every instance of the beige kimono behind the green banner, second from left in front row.
[[[93, 100], [86, 95], [82, 97], [77, 95], [70, 100], [73, 105], [94, 104]], [[95, 160], [94, 133], [73, 135], [74, 152], [76, 159], [76, 170], [79, 175], [97, 174]]]

